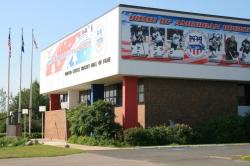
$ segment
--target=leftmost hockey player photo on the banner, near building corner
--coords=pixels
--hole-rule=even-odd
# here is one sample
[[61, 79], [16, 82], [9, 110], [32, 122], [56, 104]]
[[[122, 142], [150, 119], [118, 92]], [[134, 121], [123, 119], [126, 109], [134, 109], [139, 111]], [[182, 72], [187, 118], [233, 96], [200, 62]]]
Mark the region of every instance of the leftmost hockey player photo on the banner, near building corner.
[[130, 39], [132, 43], [132, 56], [148, 56], [148, 46], [146, 44], [146, 38], [148, 38], [148, 27], [131, 25]]

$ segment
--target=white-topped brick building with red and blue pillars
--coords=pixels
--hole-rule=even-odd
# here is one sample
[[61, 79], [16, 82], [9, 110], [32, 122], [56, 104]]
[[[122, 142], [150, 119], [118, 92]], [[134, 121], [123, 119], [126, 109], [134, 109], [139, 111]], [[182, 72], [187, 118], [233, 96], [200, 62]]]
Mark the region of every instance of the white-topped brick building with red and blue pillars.
[[119, 5], [44, 49], [40, 66], [46, 138], [65, 137], [64, 108], [98, 99], [124, 128], [243, 115], [250, 20]]

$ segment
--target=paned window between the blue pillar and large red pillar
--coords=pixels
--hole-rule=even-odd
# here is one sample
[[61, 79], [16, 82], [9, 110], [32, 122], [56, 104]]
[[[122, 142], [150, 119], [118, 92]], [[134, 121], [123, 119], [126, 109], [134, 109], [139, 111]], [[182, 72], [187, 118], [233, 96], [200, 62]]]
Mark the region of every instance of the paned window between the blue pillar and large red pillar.
[[122, 85], [114, 84], [104, 87], [104, 100], [110, 101], [113, 105], [122, 105]]

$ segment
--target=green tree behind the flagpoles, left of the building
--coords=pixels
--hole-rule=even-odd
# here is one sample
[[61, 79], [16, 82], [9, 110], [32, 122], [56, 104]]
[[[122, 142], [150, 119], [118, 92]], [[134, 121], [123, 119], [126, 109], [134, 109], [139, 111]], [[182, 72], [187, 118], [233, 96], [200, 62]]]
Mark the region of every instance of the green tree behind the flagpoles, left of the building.
[[[23, 89], [22, 94], [22, 109], [29, 108], [30, 89]], [[10, 111], [18, 110], [19, 93], [12, 98], [10, 104]], [[46, 106], [49, 108], [49, 97], [40, 94], [40, 85], [37, 81], [32, 83], [32, 132], [38, 132], [41, 130], [41, 113], [39, 112], [39, 106]], [[28, 118], [27, 118], [28, 119]], [[27, 122], [26, 122], [27, 123]]]

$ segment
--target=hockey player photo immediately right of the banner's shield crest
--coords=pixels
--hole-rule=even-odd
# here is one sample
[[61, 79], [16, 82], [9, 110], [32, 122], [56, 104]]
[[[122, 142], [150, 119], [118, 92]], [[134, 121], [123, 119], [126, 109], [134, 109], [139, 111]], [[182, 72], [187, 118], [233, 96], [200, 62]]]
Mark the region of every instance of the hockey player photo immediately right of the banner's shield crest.
[[222, 34], [209, 33], [208, 34], [208, 48], [209, 48], [209, 61], [221, 62], [222, 60]]

